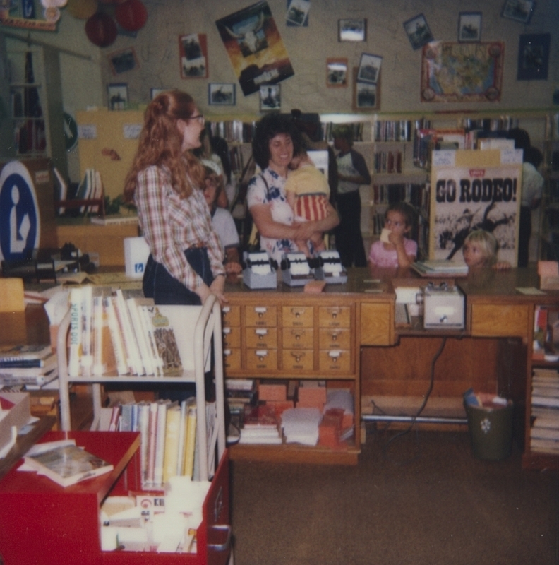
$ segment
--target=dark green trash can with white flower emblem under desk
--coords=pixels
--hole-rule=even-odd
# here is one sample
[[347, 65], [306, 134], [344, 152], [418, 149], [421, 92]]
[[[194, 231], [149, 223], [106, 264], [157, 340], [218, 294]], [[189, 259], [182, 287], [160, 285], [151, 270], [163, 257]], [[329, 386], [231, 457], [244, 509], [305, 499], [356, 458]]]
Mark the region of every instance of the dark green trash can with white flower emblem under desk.
[[464, 401], [474, 456], [499, 461], [512, 450], [512, 400], [499, 408], [472, 406]]

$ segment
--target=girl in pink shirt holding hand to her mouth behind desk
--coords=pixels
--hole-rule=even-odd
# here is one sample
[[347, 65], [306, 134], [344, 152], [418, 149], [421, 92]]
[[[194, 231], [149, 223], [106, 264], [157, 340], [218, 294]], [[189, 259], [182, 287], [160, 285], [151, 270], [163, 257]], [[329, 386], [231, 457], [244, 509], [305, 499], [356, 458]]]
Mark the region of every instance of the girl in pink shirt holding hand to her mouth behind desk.
[[415, 210], [405, 202], [391, 204], [385, 213], [383, 233], [371, 245], [369, 265], [373, 267], [409, 267], [417, 256], [417, 243], [405, 237], [415, 221]]

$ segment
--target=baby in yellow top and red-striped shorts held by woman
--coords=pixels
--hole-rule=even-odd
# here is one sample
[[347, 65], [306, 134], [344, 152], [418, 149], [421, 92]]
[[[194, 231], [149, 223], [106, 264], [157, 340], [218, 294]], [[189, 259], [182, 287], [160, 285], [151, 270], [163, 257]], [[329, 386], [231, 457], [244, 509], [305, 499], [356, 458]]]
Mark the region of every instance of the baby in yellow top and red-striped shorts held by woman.
[[[300, 149], [289, 163], [285, 192], [287, 203], [293, 208], [295, 220], [299, 222], [323, 220], [327, 216], [330, 201], [330, 186], [327, 178], [317, 169], [306, 150]], [[324, 251], [323, 234], [315, 232], [311, 237], [315, 251]], [[310, 256], [308, 242], [296, 239], [297, 249]]]

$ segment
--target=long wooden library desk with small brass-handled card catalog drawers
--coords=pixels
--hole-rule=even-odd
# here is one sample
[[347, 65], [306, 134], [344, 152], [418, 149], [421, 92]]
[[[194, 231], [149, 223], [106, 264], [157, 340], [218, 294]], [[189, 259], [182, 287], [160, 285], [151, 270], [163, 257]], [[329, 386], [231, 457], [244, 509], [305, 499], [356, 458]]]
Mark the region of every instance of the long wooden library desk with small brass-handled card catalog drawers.
[[[318, 295], [282, 283], [275, 290], [250, 290], [239, 280], [229, 281], [226, 286], [229, 304], [223, 322], [227, 332], [224, 335], [226, 376], [325, 379], [335, 386], [349, 386], [355, 396], [356, 425], [359, 425], [362, 398], [384, 398], [392, 403], [396, 399], [400, 401], [398, 408], [415, 412], [407, 400], [419, 398], [421, 404], [421, 397], [428, 389], [431, 361], [442, 338], [447, 338], [434, 371], [430, 402], [435, 409], [438, 404], [444, 411], [450, 404], [458, 406], [464, 414], [462, 393], [470, 386], [478, 391], [501, 393], [515, 401], [521, 416], [517, 422], [518, 436], [526, 437], [529, 446], [534, 309], [537, 304], [559, 304], [559, 292], [546, 291], [545, 295], [518, 292], [518, 287], [539, 286], [532, 269], [483, 270], [455, 280], [466, 297], [463, 331], [418, 331], [395, 328], [395, 285], [401, 278], [418, 286], [428, 282], [409, 271], [368, 268], [350, 270], [346, 284], [328, 285]], [[344, 352], [347, 359], [343, 365], [323, 362], [330, 350], [340, 347], [323, 333], [329, 324], [337, 323], [335, 316], [344, 319], [344, 329], [349, 335], [349, 345], [342, 349], [342, 359]], [[295, 326], [310, 334], [306, 348], [291, 341]], [[262, 347], [266, 353], [260, 355], [261, 359], [255, 355], [256, 328], [269, 330], [266, 335], [269, 343]], [[301, 335], [299, 341], [302, 340]], [[294, 362], [301, 348], [306, 361]], [[319, 448], [303, 450], [299, 446], [235, 446], [231, 456], [351, 463], [359, 449], [359, 434], [356, 434], [354, 446], [342, 456]], [[528, 448], [524, 466], [540, 465], [559, 468], [559, 456], [541, 456]]]

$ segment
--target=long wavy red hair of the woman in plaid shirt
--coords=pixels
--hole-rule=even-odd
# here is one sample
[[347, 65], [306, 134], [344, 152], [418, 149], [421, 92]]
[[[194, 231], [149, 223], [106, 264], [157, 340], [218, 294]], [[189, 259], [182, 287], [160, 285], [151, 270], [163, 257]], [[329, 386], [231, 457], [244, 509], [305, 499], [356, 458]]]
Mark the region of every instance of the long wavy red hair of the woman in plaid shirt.
[[167, 167], [173, 189], [188, 198], [194, 187], [202, 188], [204, 169], [189, 151], [181, 149], [183, 137], [176, 121], [187, 121], [194, 113], [193, 98], [180, 90], [157, 95], [145, 109], [138, 151], [124, 184], [124, 199], [133, 201], [138, 173], [147, 167]]

